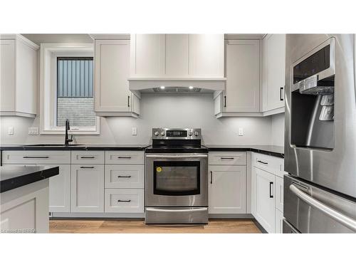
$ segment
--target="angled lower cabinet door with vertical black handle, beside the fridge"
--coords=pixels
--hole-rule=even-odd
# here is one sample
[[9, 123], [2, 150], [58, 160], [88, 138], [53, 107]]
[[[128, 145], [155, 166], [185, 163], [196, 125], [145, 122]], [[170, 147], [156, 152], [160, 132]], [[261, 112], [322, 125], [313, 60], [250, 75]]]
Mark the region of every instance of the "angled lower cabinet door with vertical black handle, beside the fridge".
[[256, 211], [255, 217], [268, 233], [274, 233], [275, 200], [274, 175], [255, 167]]

